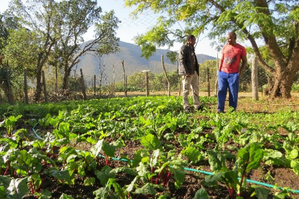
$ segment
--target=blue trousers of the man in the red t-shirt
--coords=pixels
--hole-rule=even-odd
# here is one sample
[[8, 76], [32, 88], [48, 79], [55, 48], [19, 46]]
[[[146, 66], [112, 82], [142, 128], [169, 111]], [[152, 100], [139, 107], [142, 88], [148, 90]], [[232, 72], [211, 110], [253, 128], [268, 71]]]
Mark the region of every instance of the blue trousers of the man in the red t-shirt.
[[224, 104], [226, 99], [227, 89], [229, 92], [229, 106], [235, 110], [238, 103], [239, 92], [239, 74], [225, 73], [219, 71], [218, 73], [218, 111], [224, 111]]

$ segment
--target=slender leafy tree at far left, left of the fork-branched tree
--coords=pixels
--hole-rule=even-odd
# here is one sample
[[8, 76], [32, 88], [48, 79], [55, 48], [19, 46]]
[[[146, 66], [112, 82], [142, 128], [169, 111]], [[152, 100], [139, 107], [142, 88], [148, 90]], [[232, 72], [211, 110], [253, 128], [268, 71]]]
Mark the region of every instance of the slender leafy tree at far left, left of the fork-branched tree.
[[61, 20], [57, 12], [55, 0], [13, 0], [10, 9], [21, 19], [21, 25], [37, 34], [36, 39], [36, 90], [34, 100], [40, 99], [42, 90], [41, 71], [45, 65], [54, 44], [58, 40], [57, 27]]

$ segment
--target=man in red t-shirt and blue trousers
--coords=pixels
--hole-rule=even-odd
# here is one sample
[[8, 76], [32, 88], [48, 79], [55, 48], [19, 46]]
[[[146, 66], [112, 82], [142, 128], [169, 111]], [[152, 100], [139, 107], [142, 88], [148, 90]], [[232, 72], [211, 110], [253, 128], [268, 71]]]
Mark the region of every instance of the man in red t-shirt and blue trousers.
[[[230, 32], [227, 35], [227, 44], [222, 49], [222, 58], [218, 73], [218, 112], [224, 112], [227, 89], [229, 91], [229, 106], [237, 108], [239, 77], [247, 65], [246, 50], [237, 43], [237, 35]], [[239, 70], [240, 62], [242, 66]]]

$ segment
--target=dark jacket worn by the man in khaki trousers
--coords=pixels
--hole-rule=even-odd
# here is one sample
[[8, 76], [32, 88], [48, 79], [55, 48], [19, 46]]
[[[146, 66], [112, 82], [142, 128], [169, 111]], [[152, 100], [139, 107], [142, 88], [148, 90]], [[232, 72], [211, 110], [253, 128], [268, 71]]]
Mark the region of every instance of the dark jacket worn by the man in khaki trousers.
[[[179, 50], [179, 71], [178, 74], [179, 75], [191, 75], [194, 74], [193, 71], [193, 64], [192, 64], [192, 52], [195, 55], [195, 51], [194, 51], [194, 47], [192, 47], [191, 45], [189, 46], [188, 43], [185, 43]], [[195, 71], [197, 72], [197, 74], [199, 74], [198, 71], [198, 62], [197, 62], [197, 58], [195, 55]]]

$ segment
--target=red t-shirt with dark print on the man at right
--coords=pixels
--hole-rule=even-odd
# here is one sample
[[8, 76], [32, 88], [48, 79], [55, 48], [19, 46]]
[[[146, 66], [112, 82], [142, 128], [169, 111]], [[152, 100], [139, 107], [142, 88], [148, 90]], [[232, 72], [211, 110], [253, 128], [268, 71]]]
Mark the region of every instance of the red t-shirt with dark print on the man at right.
[[246, 50], [240, 44], [235, 46], [226, 44], [222, 49], [222, 68], [225, 73], [239, 73], [241, 57], [246, 56]]

